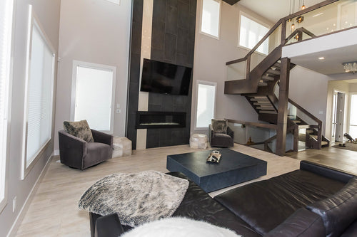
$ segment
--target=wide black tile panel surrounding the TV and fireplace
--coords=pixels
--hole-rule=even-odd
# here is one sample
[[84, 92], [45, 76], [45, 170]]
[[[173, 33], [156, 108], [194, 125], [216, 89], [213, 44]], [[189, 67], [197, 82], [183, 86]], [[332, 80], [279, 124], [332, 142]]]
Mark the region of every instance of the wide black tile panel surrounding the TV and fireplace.
[[[193, 68], [196, 4], [196, 0], [154, 0], [152, 60]], [[149, 111], [186, 112], [186, 127], [147, 130], [147, 148], [188, 144], [191, 95], [192, 85], [190, 85], [188, 95], [149, 93]]]

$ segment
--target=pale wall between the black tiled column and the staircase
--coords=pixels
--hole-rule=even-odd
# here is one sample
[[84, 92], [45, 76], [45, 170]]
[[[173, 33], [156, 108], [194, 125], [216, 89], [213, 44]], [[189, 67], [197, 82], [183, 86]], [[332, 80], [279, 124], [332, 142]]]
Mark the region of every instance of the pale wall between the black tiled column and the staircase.
[[[261, 16], [244, 8], [240, 4], [233, 6], [222, 1], [221, 31], [219, 40], [199, 33], [202, 0], [197, 1], [195, 56], [193, 63], [193, 90], [191, 109], [191, 134], [195, 132], [196, 120], [196, 81], [206, 80], [217, 83], [216, 117], [257, 122], [258, 115], [246, 98], [241, 95], [224, 95], [226, 62], [243, 58], [248, 50], [238, 47], [239, 11], [244, 11], [259, 21], [266, 21]], [[273, 23], [269, 23], [271, 26]]]

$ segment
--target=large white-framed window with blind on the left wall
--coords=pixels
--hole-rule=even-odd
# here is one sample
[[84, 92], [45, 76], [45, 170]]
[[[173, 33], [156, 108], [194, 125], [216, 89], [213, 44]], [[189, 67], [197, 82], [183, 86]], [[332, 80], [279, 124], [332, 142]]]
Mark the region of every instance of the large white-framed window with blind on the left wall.
[[22, 178], [51, 139], [55, 51], [34, 12], [29, 11]]

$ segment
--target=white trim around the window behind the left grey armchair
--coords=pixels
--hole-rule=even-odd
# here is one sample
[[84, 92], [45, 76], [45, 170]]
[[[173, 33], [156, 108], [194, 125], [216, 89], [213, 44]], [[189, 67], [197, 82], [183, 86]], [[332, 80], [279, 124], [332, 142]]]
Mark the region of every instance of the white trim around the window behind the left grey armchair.
[[109, 134], [114, 134], [114, 113], [116, 110], [115, 107], [115, 89], [116, 89], [116, 66], [104, 65], [99, 63], [89, 63], [80, 60], [73, 60], [72, 64], [72, 88], [71, 88], [71, 121], [74, 121], [74, 114], [76, 108], [76, 85], [77, 85], [77, 68], [93, 68], [99, 70], [108, 70], [113, 72], [113, 80], [111, 85], [111, 122], [110, 130], [103, 130], [101, 132], [106, 132]]

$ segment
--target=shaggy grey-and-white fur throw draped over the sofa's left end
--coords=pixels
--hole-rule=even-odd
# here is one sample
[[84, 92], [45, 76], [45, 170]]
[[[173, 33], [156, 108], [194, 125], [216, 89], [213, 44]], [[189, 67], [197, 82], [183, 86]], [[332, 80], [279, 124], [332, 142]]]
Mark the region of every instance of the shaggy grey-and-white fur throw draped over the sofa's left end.
[[79, 209], [101, 216], [117, 213], [121, 224], [134, 227], [174, 214], [187, 188], [186, 179], [156, 171], [111, 174], [81, 196]]

